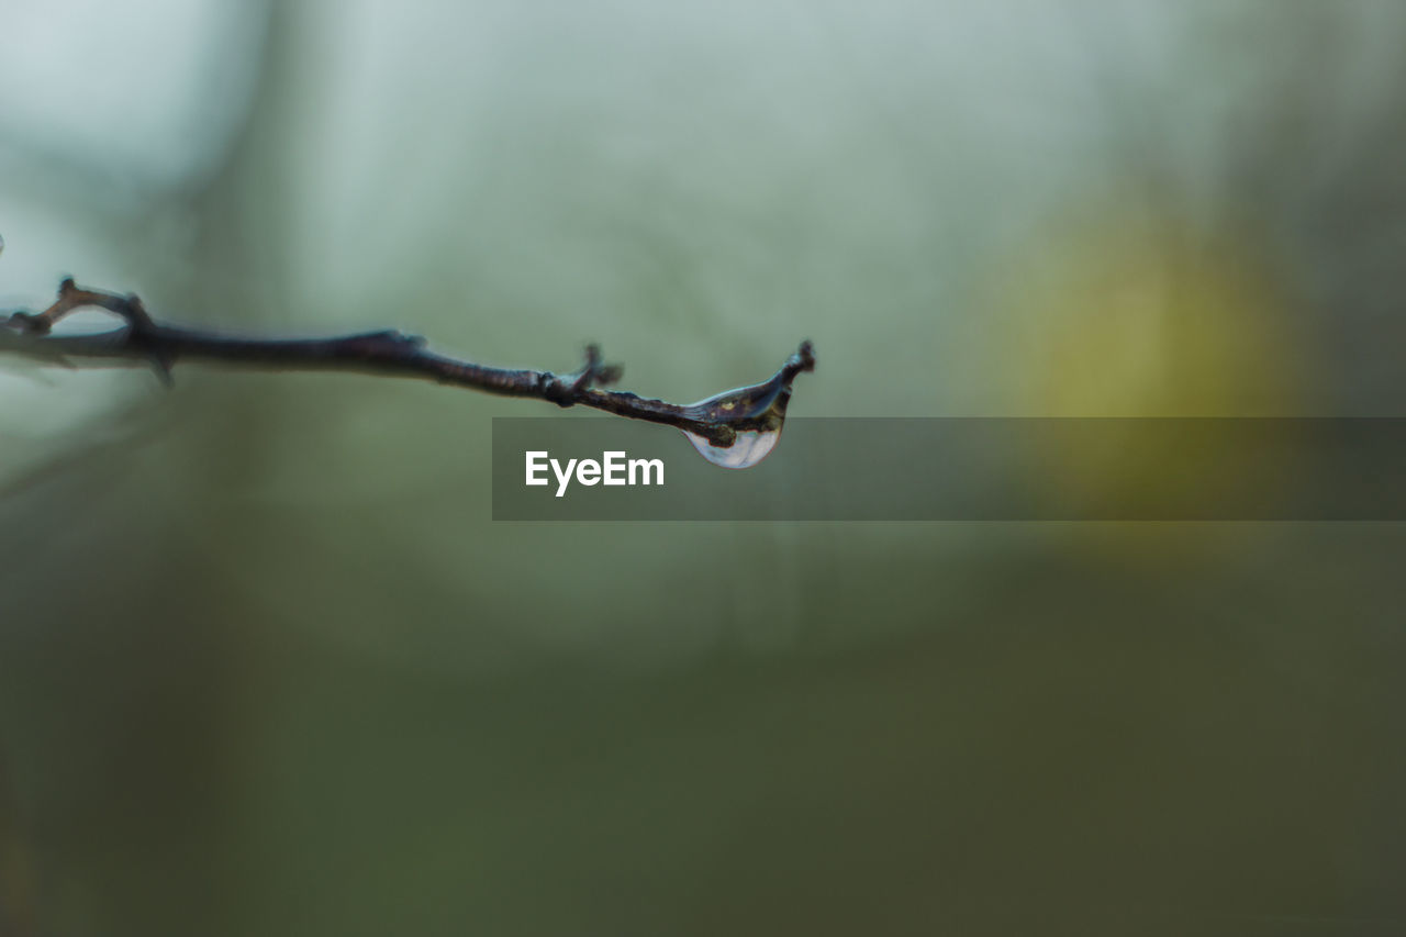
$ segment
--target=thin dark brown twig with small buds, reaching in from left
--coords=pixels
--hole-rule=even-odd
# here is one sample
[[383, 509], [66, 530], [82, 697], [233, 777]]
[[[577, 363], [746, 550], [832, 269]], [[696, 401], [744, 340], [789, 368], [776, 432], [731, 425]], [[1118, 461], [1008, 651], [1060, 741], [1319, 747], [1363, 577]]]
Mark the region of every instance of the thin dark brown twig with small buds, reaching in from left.
[[[121, 328], [96, 335], [51, 335], [56, 322], [80, 308], [105, 310]], [[149, 363], [163, 378], [177, 362], [218, 362], [239, 367], [274, 370], [335, 370], [418, 377], [454, 387], [468, 387], [506, 397], [538, 397], [558, 407], [595, 409], [676, 426], [717, 445], [731, 445], [734, 429], [718, 422], [716, 408], [679, 405], [636, 394], [602, 390], [620, 380], [619, 364], [605, 364], [600, 349], [588, 346], [582, 367], [569, 374], [530, 369], [486, 367], [430, 352], [425, 339], [394, 329], [323, 339], [238, 338], [156, 322], [135, 295], [86, 290], [65, 280], [59, 297], [44, 312], [14, 312], [0, 319], [0, 350], [72, 367], [73, 359], [108, 359]], [[815, 367], [810, 342], [803, 342], [776, 374], [745, 388], [785, 388], [801, 371]]]

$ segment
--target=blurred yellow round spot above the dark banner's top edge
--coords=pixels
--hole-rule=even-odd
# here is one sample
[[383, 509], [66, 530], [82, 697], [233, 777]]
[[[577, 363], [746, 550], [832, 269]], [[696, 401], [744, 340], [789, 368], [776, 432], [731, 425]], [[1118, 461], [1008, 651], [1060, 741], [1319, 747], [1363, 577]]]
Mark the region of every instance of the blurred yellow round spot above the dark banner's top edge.
[[1139, 218], [1046, 231], [994, 291], [994, 364], [1028, 415], [1295, 415], [1301, 353], [1260, 256]]

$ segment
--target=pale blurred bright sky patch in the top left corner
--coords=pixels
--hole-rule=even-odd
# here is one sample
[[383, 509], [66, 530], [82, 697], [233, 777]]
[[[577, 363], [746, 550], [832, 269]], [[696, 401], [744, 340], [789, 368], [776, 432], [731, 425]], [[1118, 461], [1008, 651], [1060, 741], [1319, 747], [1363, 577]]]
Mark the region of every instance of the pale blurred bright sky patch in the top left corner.
[[160, 190], [208, 173], [253, 89], [260, 24], [228, 0], [0, 3], [0, 148]]

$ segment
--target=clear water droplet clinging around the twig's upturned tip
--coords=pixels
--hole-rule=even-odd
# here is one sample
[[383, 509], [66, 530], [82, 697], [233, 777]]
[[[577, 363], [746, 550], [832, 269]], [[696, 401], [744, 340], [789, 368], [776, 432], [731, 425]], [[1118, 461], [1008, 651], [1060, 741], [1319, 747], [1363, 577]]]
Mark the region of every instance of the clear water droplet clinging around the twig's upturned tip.
[[693, 447], [714, 466], [751, 468], [770, 454], [782, 438], [790, 385], [800, 371], [815, 366], [810, 343], [801, 346], [765, 384], [738, 387], [688, 407], [688, 415], [711, 433], [683, 431]]

